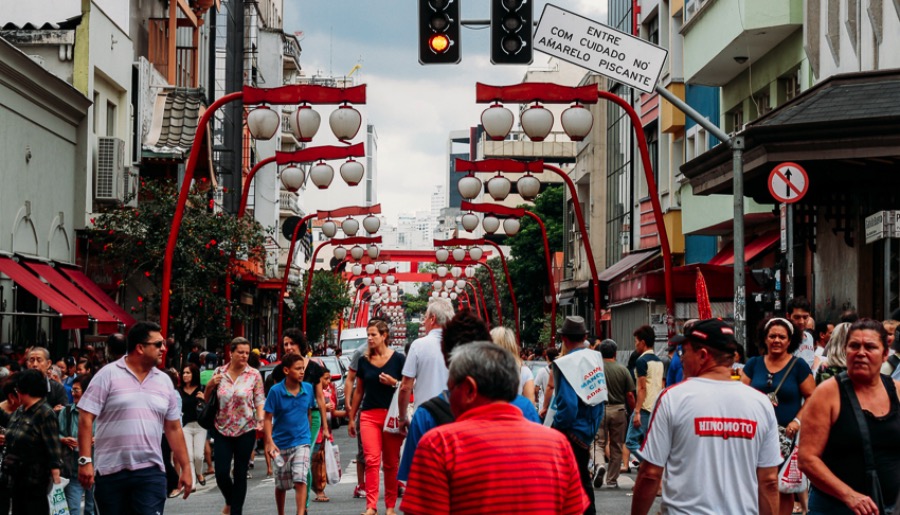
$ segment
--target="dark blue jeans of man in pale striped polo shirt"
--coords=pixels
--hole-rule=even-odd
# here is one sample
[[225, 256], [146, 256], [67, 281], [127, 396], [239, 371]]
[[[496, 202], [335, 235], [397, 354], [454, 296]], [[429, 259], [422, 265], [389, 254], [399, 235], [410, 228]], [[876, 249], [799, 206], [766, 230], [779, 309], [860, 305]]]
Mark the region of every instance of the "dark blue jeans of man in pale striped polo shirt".
[[166, 474], [155, 465], [97, 475], [94, 499], [99, 513], [162, 515], [166, 507]]

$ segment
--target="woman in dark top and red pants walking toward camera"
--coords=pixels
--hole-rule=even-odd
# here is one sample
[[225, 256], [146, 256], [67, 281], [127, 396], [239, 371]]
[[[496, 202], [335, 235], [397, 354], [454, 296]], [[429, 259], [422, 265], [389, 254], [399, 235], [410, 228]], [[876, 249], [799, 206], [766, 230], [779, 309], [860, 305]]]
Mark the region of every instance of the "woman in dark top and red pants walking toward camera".
[[395, 515], [397, 504], [397, 469], [400, 463], [400, 446], [403, 436], [384, 432], [384, 420], [400, 386], [401, 372], [406, 357], [387, 347], [388, 326], [381, 320], [373, 320], [367, 329], [368, 349], [359, 360], [356, 392], [350, 407], [350, 423], [347, 431], [356, 436], [356, 413], [359, 412], [359, 430], [362, 436], [363, 455], [366, 458], [366, 511], [364, 515], [378, 513], [378, 469], [384, 468], [384, 505], [387, 515]]

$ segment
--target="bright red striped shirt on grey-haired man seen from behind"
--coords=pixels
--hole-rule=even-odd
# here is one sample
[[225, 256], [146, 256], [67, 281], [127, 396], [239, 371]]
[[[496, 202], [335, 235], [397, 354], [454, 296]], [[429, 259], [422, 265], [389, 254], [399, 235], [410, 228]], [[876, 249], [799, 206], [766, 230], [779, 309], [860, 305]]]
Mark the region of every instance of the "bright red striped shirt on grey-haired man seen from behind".
[[588, 499], [565, 437], [508, 403], [432, 429], [413, 458], [401, 509], [418, 514], [581, 514]]

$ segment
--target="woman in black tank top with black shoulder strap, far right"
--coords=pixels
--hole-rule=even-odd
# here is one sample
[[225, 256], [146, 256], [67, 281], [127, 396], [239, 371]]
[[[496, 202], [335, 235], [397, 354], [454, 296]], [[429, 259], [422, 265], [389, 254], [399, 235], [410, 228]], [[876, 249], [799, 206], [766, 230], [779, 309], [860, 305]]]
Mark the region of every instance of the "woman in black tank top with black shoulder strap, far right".
[[[847, 376], [863, 410], [881, 496], [890, 507], [900, 493], [900, 382], [880, 374], [887, 333], [862, 319], [847, 338]], [[851, 398], [832, 378], [816, 389], [800, 432], [800, 468], [812, 482], [810, 515], [877, 514]], [[888, 508], [890, 509], [890, 508]]]

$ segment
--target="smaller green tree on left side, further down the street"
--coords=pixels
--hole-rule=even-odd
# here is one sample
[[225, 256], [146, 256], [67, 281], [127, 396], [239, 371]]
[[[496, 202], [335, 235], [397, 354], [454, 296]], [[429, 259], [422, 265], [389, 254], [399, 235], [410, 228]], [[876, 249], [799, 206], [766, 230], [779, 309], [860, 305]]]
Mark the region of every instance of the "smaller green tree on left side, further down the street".
[[[306, 281], [309, 272], [306, 273]], [[304, 281], [305, 283], [305, 281]], [[285, 327], [303, 326], [303, 288], [294, 288], [290, 292], [293, 308], [287, 310]], [[312, 289], [309, 293], [309, 308], [306, 311], [306, 338], [310, 343], [321, 342], [331, 325], [343, 314], [344, 309], [352, 305], [350, 286], [340, 274], [329, 270], [317, 270], [313, 275]]]

